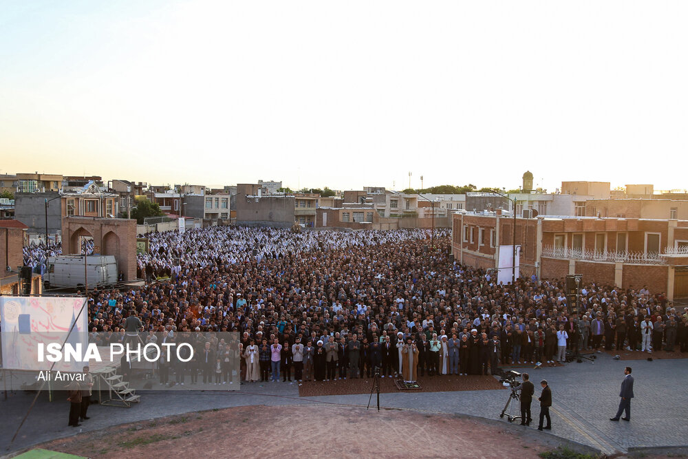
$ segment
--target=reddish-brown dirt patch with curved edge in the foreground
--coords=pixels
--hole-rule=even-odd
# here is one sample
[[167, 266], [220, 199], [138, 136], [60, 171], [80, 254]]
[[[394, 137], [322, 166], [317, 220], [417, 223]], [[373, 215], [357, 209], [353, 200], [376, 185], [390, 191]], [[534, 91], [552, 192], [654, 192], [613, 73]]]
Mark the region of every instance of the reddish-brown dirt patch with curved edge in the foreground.
[[[171, 416], [39, 447], [90, 458], [537, 458], [556, 439], [480, 420], [358, 407], [237, 407]], [[269, 456], [268, 456], [269, 455]]]

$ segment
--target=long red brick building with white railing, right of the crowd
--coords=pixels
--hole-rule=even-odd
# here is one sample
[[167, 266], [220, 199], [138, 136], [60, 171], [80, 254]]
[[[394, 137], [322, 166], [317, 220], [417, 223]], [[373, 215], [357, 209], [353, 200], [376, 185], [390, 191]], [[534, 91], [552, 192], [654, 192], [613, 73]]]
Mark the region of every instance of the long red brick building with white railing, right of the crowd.
[[[462, 264], [496, 268], [499, 246], [513, 244], [510, 216], [453, 216], [452, 253]], [[667, 292], [688, 297], [688, 221], [592, 217], [516, 218], [520, 274]]]

